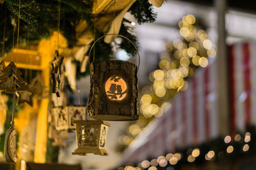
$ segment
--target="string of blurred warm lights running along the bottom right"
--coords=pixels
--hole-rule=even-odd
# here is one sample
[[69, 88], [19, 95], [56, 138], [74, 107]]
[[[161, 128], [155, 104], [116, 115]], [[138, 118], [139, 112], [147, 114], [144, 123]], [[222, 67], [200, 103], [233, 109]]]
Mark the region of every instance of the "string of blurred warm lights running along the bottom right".
[[127, 163], [124, 167], [118, 167], [118, 170], [157, 170], [157, 167], [166, 168], [177, 166], [179, 162], [182, 162], [182, 164], [190, 164], [195, 162], [196, 159], [202, 159], [202, 154], [204, 157], [203, 163], [212, 162], [216, 159], [223, 159], [225, 156], [234, 158], [232, 153], [235, 152], [235, 150], [239, 150], [239, 152], [243, 153], [249, 152], [250, 145], [253, 143], [251, 142], [251, 138], [252, 137], [250, 132], [246, 132], [244, 135], [236, 134], [233, 139], [231, 136], [225, 136], [225, 138], [221, 141], [225, 147], [218, 151], [216, 149], [211, 149], [205, 152], [202, 150], [202, 148], [201, 150], [200, 148], [188, 148], [186, 152], [167, 153], [165, 156], [160, 155], [154, 159], [143, 160], [139, 162], [137, 166], [134, 166], [132, 163]]

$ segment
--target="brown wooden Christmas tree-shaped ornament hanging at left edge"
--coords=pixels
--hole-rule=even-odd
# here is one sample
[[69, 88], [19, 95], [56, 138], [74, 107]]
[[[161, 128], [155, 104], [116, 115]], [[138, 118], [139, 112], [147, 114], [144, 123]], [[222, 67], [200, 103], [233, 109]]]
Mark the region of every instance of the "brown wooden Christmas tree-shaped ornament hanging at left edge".
[[22, 91], [27, 89], [26, 81], [21, 77], [21, 71], [15, 66], [14, 62], [1, 71], [0, 89], [6, 93], [13, 93], [15, 90]]

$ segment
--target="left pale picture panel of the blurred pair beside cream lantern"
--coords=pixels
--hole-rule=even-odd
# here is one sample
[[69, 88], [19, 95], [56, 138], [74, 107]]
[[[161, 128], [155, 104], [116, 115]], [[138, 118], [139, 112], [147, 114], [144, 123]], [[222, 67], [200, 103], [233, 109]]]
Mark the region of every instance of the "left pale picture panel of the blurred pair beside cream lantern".
[[62, 107], [52, 108], [52, 115], [54, 116], [55, 128], [58, 131], [68, 129], [68, 112], [67, 108]]

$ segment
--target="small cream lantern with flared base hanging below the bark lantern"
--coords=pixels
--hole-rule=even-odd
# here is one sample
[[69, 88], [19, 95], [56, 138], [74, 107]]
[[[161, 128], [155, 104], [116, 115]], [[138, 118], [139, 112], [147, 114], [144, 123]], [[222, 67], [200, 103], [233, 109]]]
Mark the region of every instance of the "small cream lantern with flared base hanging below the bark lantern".
[[72, 155], [108, 155], [105, 144], [108, 134], [108, 122], [100, 120], [75, 120], [77, 149]]

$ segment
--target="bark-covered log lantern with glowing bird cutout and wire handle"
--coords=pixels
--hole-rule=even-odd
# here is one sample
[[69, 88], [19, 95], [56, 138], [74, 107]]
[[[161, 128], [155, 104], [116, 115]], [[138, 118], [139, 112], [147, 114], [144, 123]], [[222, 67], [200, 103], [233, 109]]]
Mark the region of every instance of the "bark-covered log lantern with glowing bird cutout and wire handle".
[[[119, 34], [115, 35], [121, 36]], [[132, 43], [132, 41], [125, 36], [121, 37]], [[99, 39], [97, 39], [97, 41], [99, 41]], [[97, 43], [97, 41], [95, 41], [95, 43]], [[92, 48], [95, 43], [92, 45]], [[134, 45], [134, 43], [132, 43], [132, 45]], [[135, 45], [134, 47], [136, 48]], [[138, 67], [131, 62], [121, 60], [93, 61], [90, 64], [91, 89], [88, 103], [89, 116], [97, 120], [137, 120], [137, 74]]]

